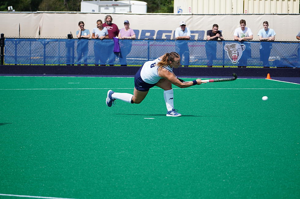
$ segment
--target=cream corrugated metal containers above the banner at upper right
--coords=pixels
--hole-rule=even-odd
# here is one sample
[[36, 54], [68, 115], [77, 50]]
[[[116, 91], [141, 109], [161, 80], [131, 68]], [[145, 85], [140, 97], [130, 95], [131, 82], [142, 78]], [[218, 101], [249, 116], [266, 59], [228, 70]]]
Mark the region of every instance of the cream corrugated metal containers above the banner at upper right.
[[299, 14], [299, 0], [174, 0], [182, 14]]

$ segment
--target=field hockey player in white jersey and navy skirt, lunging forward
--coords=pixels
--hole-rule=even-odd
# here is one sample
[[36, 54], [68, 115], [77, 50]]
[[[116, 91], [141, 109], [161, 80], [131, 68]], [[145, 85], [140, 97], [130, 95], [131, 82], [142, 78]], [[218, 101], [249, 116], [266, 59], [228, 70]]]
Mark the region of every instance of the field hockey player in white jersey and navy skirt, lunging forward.
[[129, 93], [116, 93], [109, 90], [106, 98], [107, 106], [111, 107], [116, 99], [132, 104], [139, 104], [144, 100], [149, 89], [157, 86], [164, 90], [163, 96], [167, 106], [166, 116], [181, 116], [177, 112], [178, 110], [174, 109], [172, 84], [180, 88], [187, 88], [206, 82], [201, 79], [180, 81], [173, 73], [173, 68], [178, 68], [179, 66], [180, 56], [176, 52], [166, 53], [153, 61], [145, 62], [134, 77], [133, 95]]

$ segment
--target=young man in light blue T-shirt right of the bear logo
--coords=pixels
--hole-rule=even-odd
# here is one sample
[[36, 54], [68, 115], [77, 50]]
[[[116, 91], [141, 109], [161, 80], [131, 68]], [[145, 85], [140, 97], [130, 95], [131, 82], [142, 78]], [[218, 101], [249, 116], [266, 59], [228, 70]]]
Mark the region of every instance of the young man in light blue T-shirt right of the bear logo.
[[[269, 27], [269, 23], [267, 21], [263, 22], [264, 28], [259, 30], [258, 37], [259, 41], [274, 41], [275, 40], [275, 31]], [[264, 68], [269, 68], [269, 57], [272, 49], [271, 42], [261, 42], [261, 46], [259, 48], [260, 60], [263, 62]]]

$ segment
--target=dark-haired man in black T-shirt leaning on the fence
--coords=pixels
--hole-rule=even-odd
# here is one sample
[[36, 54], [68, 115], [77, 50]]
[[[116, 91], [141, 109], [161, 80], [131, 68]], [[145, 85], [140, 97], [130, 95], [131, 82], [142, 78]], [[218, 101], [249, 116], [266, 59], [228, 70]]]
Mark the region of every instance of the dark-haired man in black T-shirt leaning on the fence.
[[206, 33], [206, 39], [208, 42], [205, 43], [205, 52], [208, 59], [207, 67], [212, 67], [212, 60], [217, 59], [217, 43], [210, 41], [217, 41], [218, 39], [224, 40], [222, 32], [219, 31], [218, 24], [212, 25], [212, 30], [208, 30]]

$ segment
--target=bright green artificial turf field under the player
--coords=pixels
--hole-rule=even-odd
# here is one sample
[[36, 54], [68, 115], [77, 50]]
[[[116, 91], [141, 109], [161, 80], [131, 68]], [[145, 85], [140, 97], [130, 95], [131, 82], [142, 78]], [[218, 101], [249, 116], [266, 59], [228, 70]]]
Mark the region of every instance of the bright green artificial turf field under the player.
[[155, 87], [107, 107], [133, 78], [0, 76], [0, 198], [300, 197], [300, 85], [173, 88], [182, 117]]

